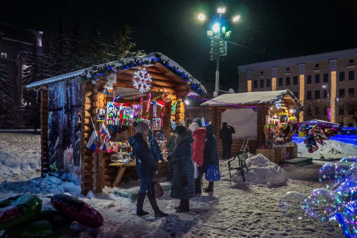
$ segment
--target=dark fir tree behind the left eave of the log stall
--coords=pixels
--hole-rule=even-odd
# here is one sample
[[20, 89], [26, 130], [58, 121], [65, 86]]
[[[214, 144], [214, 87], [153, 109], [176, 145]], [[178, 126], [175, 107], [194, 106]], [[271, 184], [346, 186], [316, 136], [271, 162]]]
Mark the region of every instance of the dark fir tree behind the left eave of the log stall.
[[[36, 46], [36, 43], [30, 50], [29, 60], [26, 65], [28, 66], [24, 70], [24, 78], [22, 79], [22, 85], [26, 86], [30, 83], [45, 79], [46, 75], [42, 72], [42, 55], [40, 47]], [[26, 87], [22, 90], [22, 97], [25, 105], [24, 118], [26, 125], [32, 127], [35, 131], [40, 128], [40, 97], [37, 97], [36, 91], [27, 91]]]

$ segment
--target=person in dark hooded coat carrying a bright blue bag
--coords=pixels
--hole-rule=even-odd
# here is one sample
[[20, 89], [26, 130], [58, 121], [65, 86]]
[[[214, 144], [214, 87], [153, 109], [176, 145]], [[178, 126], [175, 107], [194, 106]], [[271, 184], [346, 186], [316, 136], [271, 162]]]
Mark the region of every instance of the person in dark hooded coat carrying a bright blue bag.
[[[203, 165], [201, 167], [202, 173], [200, 176], [203, 177], [203, 173], [206, 173], [208, 166], [210, 164], [214, 164], [217, 168], [220, 168], [220, 158], [218, 157], [218, 147], [217, 147], [217, 139], [213, 134], [214, 127], [212, 124], [208, 124], [204, 126], [206, 128], [206, 143], [205, 150], [203, 151]], [[204, 189], [205, 192], [212, 196], [213, 194], [213, 186], [214, 182], [208, 182], [208, 188]]]

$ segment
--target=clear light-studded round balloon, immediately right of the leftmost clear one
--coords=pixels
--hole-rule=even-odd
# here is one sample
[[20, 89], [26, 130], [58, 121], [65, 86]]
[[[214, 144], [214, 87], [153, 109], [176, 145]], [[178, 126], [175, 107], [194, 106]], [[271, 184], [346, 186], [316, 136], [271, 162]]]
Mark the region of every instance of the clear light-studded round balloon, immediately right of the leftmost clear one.
[[322, 222], [329, 221], [330, 214], [340, 210], [336, 195], [326, 188], [312, 189], [303, 206], [307, 215]]

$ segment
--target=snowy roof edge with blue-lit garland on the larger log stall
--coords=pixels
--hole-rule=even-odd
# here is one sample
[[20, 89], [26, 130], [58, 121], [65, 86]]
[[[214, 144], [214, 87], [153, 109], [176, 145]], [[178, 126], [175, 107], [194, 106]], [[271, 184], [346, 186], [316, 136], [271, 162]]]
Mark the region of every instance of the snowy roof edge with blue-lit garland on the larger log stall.
[[162, 55], [159, 52], [153, 52], [149, 55], [140, 56], [140, 57], [130, 57], [121, 60], [116, 60], [113, 62], [96, 65], [89, 67], [87, 69], [78, 70], [75, 72], [71, 72], [68, 74], [63, 74], [59, 76], [55, 76], [49, 79], [40, 80], [37, 82], [30, 83], [26, 86], [26, 88], [37, 87], [41, 85], [45, 85], [48, 83], [54, 83], [63, 81], [75, 76], [81, 76], [82, 78], [86, 79], [86, 81], [96, 80], [97, 76], [104, 75], [107, 72], [117, 72], [120, 70], [125, 70], [132, 66], [137, 65], [149, 65], [154, 62], [160, 62], [164, 67], [169, 69], [173, 74], [180, 77], [182, 80], [185, 80], [189, 86], [192, 87], [193, 91], [197, 91], [199, 93], [206, 93], [205, 87], [198, 82], [195, 78], [193, 78], [187, 71], [185, 71], [180, 65], [178, 65], [175, 61], [169, 59], [167, 56]]

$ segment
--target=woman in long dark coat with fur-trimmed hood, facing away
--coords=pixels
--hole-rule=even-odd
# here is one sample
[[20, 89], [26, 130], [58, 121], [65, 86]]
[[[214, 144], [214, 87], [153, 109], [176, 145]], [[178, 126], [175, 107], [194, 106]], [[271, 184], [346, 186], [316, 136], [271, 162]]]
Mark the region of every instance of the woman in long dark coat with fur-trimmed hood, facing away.
[[179, 125], [176, 126], [175, 133], [175, 147], [170, 154], [174, 170], [172, 198], [180, 199], [180, 206], [176, 207], [176, 212], [189, 212], [189, 199], [195, 197], [195, 168], [192, 162], [191, 145], [193, 143], [192, 131]]

